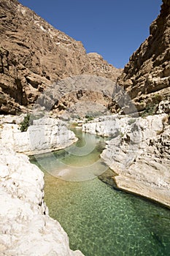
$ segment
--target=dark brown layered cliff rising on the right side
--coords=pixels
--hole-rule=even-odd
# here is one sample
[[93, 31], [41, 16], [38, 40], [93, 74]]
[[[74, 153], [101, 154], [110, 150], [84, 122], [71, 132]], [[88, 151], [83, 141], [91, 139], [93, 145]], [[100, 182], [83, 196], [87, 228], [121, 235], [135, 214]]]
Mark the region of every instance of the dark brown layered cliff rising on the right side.
[[[128, 93], [139, 112], [155, 113], [158, 103], [170, 97], [170, 2], [163, 0], [161, 13], [150, 25], [150, 36], [125, 65], [117, 83]], [[117, 105], [132, 113], [130, 100]], [[120, 102], [120, 104], [119, 104]], [[117, 106], [118, 108], [118, 106]]]

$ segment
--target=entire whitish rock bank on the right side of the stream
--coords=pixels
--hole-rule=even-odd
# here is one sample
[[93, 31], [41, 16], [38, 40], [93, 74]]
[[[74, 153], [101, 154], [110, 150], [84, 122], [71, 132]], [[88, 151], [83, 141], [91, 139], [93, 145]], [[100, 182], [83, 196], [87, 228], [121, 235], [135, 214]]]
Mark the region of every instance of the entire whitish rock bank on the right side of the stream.
[[117, 187], [170, 207], [170, 126], [165, 113], [110, 116], [84, 124], [83, 131], [112, 136], [101, 157], [117, 173]]

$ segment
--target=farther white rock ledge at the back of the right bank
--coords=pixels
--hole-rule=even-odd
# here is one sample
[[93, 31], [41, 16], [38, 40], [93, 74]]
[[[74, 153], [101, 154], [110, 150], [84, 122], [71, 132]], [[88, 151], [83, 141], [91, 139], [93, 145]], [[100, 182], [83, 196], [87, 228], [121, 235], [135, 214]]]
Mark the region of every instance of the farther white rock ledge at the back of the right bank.
[[[120, 116], [118, 114], [96, 118], [88, 124], [83, 124], [82, 131], [96, 134], [103, 137], [123, 137], [127, 133], [131, 133], [134, 142], [139, 142], [155, 136], [157, 132], [163, 129], [162, 118], [166, 118], [166, 114], [162, 116], [147, 116], [146, 118], [134, 118], [129, 116]], [[135, 127], [138, 127], [135, 129]], [[134, 129], [134, 131], [132, 131]], [[142, 132], [144, 130], [144, 132]], [[136, 138], [136, 134], [138, 137]]]

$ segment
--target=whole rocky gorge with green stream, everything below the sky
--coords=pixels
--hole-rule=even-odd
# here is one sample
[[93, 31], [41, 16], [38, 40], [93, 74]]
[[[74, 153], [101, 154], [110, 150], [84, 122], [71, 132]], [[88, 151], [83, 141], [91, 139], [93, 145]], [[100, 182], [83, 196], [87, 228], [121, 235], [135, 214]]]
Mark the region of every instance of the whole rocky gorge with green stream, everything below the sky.
[[124, 69], [17, 0], [0, 19], [0, 255], [168, 256], [169, 0]]

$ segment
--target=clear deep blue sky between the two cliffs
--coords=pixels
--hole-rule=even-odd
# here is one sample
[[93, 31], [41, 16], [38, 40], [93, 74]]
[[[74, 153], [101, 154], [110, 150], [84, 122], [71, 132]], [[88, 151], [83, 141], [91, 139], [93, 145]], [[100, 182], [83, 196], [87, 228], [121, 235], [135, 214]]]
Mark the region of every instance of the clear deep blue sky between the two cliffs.
[[82, 41], [87, 53], [124, 67], [149, 36], [161, 0], [19, 0], [56, 29]]

